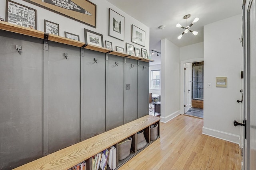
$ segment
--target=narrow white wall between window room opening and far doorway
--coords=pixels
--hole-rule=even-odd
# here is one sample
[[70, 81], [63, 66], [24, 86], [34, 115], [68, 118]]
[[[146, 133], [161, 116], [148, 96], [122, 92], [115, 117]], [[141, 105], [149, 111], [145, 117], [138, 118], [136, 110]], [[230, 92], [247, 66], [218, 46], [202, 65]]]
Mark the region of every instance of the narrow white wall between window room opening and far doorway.
[[180, 48], [161, 40], [161, 121], [180, 114]]

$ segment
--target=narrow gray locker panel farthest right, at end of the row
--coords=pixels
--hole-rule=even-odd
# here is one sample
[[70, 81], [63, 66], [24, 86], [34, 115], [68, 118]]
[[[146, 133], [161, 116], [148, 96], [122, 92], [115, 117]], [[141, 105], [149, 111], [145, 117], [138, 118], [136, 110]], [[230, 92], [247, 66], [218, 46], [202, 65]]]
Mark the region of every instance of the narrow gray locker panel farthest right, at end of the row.
[[138, 118], [148, 115], [148, 63], [138, 61]]

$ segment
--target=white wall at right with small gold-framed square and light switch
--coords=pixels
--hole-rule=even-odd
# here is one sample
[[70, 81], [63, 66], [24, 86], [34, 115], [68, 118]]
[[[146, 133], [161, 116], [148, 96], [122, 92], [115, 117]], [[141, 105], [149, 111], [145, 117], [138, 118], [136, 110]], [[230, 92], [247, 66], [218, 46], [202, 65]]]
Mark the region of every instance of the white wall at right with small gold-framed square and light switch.
[[[203, 133], [239, 143], [241, 104], [241, 15], [204, 26]], [[230, 27], [232, 25], [232, 27]], [[216, 77], [227, 77], [227, 87], [216, 87]], [[207, 88], [212, 83], [212, 88]]]

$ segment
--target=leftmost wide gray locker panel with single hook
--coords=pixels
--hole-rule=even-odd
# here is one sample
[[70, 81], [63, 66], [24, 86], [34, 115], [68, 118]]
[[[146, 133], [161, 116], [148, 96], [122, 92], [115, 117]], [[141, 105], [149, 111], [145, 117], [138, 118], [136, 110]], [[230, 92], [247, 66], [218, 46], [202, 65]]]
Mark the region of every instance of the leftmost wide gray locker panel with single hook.
[[43, 41], [0, 31], [0, 169], [42, 156]]

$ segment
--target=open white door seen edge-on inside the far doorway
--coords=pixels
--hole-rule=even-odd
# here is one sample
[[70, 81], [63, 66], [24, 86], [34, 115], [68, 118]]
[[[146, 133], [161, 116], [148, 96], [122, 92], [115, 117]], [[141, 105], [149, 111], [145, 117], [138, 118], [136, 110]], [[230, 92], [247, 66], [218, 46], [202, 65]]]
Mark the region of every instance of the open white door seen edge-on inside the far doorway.
[[188, 87], [188, 74], [188, 64], [184, 64], [184, 113], [187, 113], [189, 109], [188, 94], [190, 90]]

